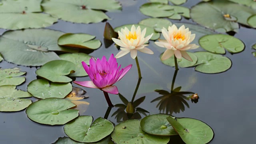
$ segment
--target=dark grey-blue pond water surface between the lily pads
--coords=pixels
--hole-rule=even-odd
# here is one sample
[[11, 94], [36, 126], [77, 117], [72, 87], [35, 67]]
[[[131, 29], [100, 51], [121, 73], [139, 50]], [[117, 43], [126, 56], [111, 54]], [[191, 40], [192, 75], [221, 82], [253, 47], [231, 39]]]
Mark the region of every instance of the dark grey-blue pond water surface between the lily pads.
[[[119, 0], [123, 5], [122, 12], [107, 12], [112, 18], [108, 22], [113, 26], [123, 24], [136, 24], [144, 18], [148, 18], [139, 12], [139, 7], [147, 0]], [[183, 6], [190, 7], [198, 3], [199, 0], [188, 0]], [[190, 21], [185, 20], [182, 21]], [[174, 21], [172, 21], [174, 22]], [[95, 35], [103, 43], [103, 30], [105, 22], [97, 24], [73, 24], [71, 22], [59, 21], [48, 27], [54, 30], [71, 33], [88, 33]], [[4, 30], [0, 29], [2, 34]], [[225, 56], [232, 60], [232, 68], [220, 74], [202, 74], [194, 71], [194, 68], [180, 68], [178, 71], [174, 88], [182, 86], [182, 91], [198, 93], [199, 102], [194, 104], [188, 101], [190, 108], [185, 107], [184, 112], [173, 113], [177, 117], [190, 117], [206, 122], [214, 130], [215, 136], [211, 144], [240, 144], [252, 143], [254, 139], [254, 130], [256, 129], [256, 106], [255, 86], [256, 86], [256, 58], [252, 56], [251, 46], [255, 41], [256, 30], [241, 27], [236, 38], [242, 40], [246, 48], [239, 54]], [[160, 96], [154, 89], [170, 89], [172, 76], [175, 68], [166, 66], [160, 62], [160, 53], [150, 41], [150, 48], [154, 55], [138, 53], [140, 68], [142, 70], [142, 80], [138, 94], [135, 99], [146, 96], [145, 101], [139, 107], [148, 110], [150, 114], [159, 113], [156, 105], [158, 102], [150, 103], [154, 98]], [[91, 56], [102, 57], [110, 54], [117, 54], [118, 50], [114, 46], [105, 48], [102, 46], [91, 53]], [[142, 62], [144, 60], [147, 64]], [[119, 81], [116, 86], [119, 92], [128, 100], [132, 99], [135, 90], [138, 73], [135, 60], [126, 55], [118, 59], [122, 67], [133, 64], [133, 68]], [[16, 67], [16, 64], [1, 62], [1, 68]], [[26, 90], [27, 85], [36, 79], [36, 68], [18, 66], [22, 71], [26, 71], [26, 82], [18, 89]], [[89, 77], [77, 78], [76, 80], [90, 80]], [[152, 86], [149, 86], [152, 85]], [[73, 84], [73, 86], [77, 86]], [[154, 86], [154, 87], [153, 87]], [[103, 92], [98, 89], [84, 88], [90, 98], [85, 99], [90, 103], [86, 115], [92, 115], [95, 119], [103, 117], [107, 103]], [[113, 104], [120, 104], [122, 101], [118, 95], [110, 95]], [[32, 98], [33, 102], [35, 101]], [[116, 123], [116, 119], [111, 117], [117, 108], [112, 108], [108, 119]], [[0, 113], [0, 143], [1, 144], [50, 144], [65, 136], [63, 126], [47, 126], [32, 122], [26, 116], [25, 110], [12, 113]]]

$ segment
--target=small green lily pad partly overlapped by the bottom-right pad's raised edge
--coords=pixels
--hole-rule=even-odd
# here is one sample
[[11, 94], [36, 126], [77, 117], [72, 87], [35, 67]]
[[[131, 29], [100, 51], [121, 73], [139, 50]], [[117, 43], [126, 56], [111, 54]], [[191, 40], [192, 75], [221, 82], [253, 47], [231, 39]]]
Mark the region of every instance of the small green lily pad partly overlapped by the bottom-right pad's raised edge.
[[166, 114], [152, 114], [142, 118], [140, 127], [148, 134], [158, 136], [172, 136], [177, 133], [166, 120], [169, 115]]

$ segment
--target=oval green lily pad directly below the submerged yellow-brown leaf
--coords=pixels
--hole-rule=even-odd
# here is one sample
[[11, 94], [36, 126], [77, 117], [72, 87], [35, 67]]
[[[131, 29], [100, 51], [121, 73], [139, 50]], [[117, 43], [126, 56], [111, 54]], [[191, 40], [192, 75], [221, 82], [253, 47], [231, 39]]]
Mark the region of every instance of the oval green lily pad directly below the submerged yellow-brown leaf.
[[26, 110], [26, 114], [30, 120], [40, 124], [66, 124], [70, 120], [78, 117], [79, 110], [69, 109], [74, 106], [76, 105], [68, 100], [46, 98], [30, 104]]

